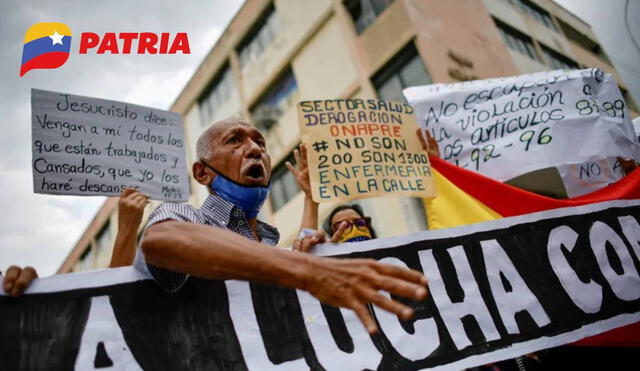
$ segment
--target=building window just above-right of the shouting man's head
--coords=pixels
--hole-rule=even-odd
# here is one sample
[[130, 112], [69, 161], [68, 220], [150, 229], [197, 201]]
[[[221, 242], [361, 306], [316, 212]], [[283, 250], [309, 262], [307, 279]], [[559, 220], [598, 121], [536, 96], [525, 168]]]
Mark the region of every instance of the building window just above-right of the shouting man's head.
[[298, 83], [291, 68], [287, 68], [251, 108], [251, 118], [256, 127], [269, 130], [287, 108], [295, 104], [297, 93]]

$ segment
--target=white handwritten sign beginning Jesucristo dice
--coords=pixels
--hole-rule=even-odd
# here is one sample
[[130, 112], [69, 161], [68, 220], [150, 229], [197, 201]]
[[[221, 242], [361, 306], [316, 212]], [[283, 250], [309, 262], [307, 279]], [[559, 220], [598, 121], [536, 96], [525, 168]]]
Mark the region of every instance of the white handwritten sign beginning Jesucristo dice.
[[186, 201], [189, 178], [179, 114], [31, 89], [35, 193]]

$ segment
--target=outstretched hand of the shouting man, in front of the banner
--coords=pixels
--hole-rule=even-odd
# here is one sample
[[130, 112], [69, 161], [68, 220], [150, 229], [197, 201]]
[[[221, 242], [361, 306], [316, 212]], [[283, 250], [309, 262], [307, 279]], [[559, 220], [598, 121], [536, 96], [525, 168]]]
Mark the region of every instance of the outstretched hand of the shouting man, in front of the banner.
[[421, 301], [427, 297], [427, 279], [418, 271], [373, 259], [316, 258], [309, 261], [305, 288], [324, 303], [352, 309], [370, 334], [378, 331], [367, 304], [374, 304], [403, 320], [413, 309], [379, 292]]

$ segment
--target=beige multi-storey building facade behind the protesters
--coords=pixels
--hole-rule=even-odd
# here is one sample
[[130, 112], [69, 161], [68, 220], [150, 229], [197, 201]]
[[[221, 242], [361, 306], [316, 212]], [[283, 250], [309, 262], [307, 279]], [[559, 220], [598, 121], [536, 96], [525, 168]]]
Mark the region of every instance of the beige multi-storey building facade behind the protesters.
[[[300, 141], [297, 101], [404, 100], [408, 86], [584, 67], [613, 74], [637, 111], [589, 25], [550, 0], [248, 0], [171, 110], [184, 117], [189, 163], [198, 136], [223, 118], [244, 117], [265, 134], [272, 191], [259, 217], [278, 227], [287, 246], [304, 197], [284, 166]], [[543, 173], [515, 184], [526, 188], [533, 179], [555, 181]], [[199, 205], [207, 190], [195, 182], [191, 189]], [[381, 236], [427, 228], [419, 199], [356, 203]], [[334, 206], [322, 204], [320, 220]], [[106, 266], [100, 254], [103, 243], [113, 245], [115, 211], [108, 200], [60, 272]]]

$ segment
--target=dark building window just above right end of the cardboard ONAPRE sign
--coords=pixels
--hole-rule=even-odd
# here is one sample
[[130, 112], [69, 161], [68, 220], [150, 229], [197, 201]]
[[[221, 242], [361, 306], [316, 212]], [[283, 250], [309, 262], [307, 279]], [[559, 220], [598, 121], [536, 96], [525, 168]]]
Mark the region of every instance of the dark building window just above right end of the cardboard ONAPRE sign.
[[373, 76], [372, 82], [380, 99], [406, 102], [402, 89], [431, 84], [431, 77], [410, 43]]

